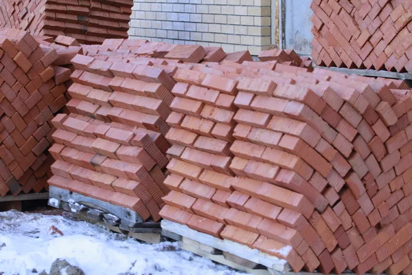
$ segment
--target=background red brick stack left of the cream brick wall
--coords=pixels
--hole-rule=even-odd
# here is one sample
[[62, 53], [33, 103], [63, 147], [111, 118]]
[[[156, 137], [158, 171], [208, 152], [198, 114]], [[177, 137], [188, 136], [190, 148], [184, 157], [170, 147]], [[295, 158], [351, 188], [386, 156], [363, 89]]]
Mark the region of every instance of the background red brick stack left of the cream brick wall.
[[0, 5], [0, 27], [101, 44], [128, 37], [132, 7], [133, 0], [8, 0]]

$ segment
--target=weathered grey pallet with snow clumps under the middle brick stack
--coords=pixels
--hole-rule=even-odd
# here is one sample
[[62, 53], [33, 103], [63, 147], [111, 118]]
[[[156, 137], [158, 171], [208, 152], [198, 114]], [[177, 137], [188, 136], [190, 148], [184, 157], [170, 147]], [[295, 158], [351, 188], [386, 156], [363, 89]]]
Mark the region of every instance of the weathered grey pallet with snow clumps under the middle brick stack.
[[160, 223], [143, 222], [137, 212], [55, 186], [49, 188], [49, 206], [71, 212], [84, 221], [145, 241], [161, 242]]

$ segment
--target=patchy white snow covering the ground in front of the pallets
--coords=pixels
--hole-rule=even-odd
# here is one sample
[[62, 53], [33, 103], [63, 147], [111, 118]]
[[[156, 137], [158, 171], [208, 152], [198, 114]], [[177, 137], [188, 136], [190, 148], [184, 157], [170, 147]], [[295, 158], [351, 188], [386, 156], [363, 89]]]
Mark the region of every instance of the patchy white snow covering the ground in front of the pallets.
[[[54, 225], [63, 233], [52, 234]], [[0, 212], [0, 274], [50, 270], [66, 259], [86, 275], [237, 275], [222, 265], [185, 252], [176, 243], [149, 245], [100, 225], [56, 215]]]

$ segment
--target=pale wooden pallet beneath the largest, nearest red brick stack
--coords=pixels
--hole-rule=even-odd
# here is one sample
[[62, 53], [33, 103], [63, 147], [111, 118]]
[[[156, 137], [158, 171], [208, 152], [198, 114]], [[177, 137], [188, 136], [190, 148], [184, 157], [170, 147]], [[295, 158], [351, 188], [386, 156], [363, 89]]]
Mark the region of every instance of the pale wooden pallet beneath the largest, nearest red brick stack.
[[[321, 273], [292, 272], [290, 265], [283, 259], [252, 250], [240, 243], [218, 239], [192, 230], [186, 225], [163, 220], [161, 228], [163, 236], [179, 241], [181, 249], [242, 272], [256, 275], [322, 275]], [[349, 270], [343, 274], [354, 275]]]

